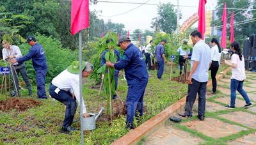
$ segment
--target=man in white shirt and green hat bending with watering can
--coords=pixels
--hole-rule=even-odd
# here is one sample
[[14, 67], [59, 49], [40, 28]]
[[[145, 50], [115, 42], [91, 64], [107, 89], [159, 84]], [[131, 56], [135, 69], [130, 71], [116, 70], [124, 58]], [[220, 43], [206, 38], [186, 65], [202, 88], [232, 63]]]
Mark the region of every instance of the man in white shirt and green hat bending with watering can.
[[[89, 62], [82, 62], [82, 76], [88, 77], [93, 72], [93, 65]], [[77, 109], [77, 102], [83, 103], [84, 118], [90, 117], [83, 102], [80, 102], [79, 91], [79, 61], [74, 61], [66, 70], [52, 79], [49, 86], [49, 94], [59, 102], [66, 105], [66, 113], [61, 132], [70, 132], [74, 128], [71, 124]]]

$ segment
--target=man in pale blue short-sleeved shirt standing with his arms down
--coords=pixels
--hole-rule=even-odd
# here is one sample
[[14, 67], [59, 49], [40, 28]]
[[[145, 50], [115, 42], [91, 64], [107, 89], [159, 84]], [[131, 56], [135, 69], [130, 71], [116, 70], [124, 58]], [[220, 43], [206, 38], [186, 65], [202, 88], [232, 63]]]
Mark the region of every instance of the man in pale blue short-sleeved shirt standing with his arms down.
[[208, 81], [208, 71], [211, 65], [211, 49], [204, 40], [202, 34], [195, 30], [191, 34], [191, 40], [194, 48], [191, 56], [191, 72], [189, 73], [188, 82], [188, 95], [186, 97], [186, 107], [184, 114], [179, 114], [182, 117], [193, 116], [193, 105], [198, 94], [198, 119], [204, 121], [205, 114], [205, 94], [206, 85]]

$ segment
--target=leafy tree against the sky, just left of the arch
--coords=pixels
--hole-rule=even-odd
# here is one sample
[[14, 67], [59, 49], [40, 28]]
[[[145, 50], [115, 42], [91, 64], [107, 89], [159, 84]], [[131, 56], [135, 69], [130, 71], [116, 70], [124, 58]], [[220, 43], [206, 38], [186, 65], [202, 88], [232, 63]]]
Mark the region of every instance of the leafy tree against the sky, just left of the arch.
[[[177, 26], [177, 13], [174, 10], [174, 6], [171, 3], [159, 4], [157, 9], [158, 16], [155, 17], [151, 24], [152, 28], [159, 29], [166, 33], [172, 33], [172, 31], [176, 30]], [[180, 13], [180, 19], [182, 19], [182, 15]]]

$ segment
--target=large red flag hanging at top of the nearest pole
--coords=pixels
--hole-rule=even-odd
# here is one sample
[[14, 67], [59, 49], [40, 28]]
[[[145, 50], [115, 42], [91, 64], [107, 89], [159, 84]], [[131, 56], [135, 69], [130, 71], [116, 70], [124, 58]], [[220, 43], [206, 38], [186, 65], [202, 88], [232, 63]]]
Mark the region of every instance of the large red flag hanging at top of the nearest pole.
[[71, 34], [76, 34], [89, 27], [89, 0], [72, 0], [71, 4]]

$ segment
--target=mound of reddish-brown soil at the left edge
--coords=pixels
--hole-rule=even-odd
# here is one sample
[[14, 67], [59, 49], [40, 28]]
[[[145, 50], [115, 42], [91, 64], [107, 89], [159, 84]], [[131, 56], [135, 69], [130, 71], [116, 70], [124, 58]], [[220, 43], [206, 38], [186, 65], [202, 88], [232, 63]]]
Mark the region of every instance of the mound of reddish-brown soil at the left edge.
[[0, 110], [8, 111], [16, 109], [17, 111], [26, 111], [31, 107], [36, 107], [42, 102], [38, 102], [32, 98], [10, 98], [0, 102]]

